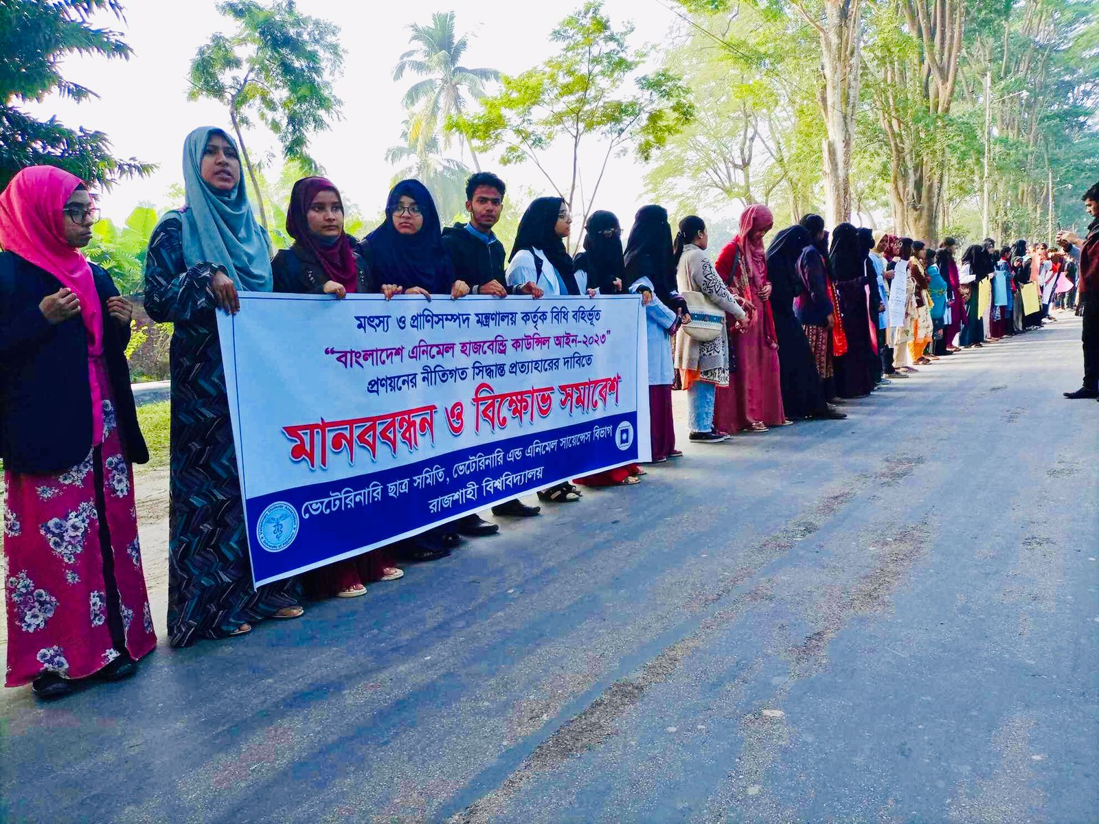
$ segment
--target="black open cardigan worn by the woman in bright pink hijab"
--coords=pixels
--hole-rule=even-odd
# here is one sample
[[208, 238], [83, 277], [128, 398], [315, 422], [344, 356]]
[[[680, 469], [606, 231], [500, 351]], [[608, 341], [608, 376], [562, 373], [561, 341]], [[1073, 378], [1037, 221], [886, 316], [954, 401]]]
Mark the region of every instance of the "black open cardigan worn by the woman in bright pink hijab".
[[[92, 265], [103, 311], [103, 359], [111, 382], [119, 436], [126, 460], [148, 461], [130, 389], [125, 346], [130, 330], [107, 311], [119, 293]], [[13, 472], [57, 472], [91, 450], [88, 336], [79, 315], [56, 325], [38, 303], [62, 288], [49, 272], [11, 252], [0, 253], [0, 457]]]

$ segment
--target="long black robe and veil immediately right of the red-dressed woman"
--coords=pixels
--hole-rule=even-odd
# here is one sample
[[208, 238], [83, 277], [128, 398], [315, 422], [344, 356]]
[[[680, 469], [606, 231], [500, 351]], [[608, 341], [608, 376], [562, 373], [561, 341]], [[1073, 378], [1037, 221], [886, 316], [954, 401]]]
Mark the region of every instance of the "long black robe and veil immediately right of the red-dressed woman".
[[795, 264], [808, 244], [809, 233], [793, 225], [779, 232], [767, 249], [782, 409], [791, 421], [823, 414], [828, 409], [812, 349], [793, 314], [793, 299], [803, 290]]

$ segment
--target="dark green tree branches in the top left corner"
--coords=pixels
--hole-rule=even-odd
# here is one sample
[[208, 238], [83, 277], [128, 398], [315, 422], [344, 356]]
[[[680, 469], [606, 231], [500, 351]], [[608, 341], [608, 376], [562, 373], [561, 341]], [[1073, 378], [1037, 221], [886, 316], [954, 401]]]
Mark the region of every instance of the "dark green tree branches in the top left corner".
[[73, 53], [130, 57], [130, 46], [118, 32], [91, 24], [99, 11], [121, 19], [122, 4], [118, 0], [0, 2], [0, 189], [26, 166], [59, 166], [106, 187], [155, 168], [133, 157], [114, 157], [102, 132], [68, 129], [56, 118], [35, 120], [16, 105], [42, 101], [53, 92], [76, 101], [98, 97], [64, 77], [60, 63]]

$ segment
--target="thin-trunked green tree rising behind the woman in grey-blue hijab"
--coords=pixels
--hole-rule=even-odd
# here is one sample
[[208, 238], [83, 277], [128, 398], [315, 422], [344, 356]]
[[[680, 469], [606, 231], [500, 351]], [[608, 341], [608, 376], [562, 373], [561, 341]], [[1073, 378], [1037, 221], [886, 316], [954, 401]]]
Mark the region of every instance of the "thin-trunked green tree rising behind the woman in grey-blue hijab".
[[278, 137], [287, 160], [309, 170], [309, 137], [340, 118], [341, 100], [332, 80], [343, 65], [340, 30], [328, 21], [302, 14], [295, 0], [225, 0], [218, 10], [237, 23], [232, 35], [214, 34], [191, 60], [191, 100], [211, 98], [229, 109], [241, 157], [252, 182], [260, 222], [267, 227], [256, 166], [248, 156], [242, 129], [252, 113]]

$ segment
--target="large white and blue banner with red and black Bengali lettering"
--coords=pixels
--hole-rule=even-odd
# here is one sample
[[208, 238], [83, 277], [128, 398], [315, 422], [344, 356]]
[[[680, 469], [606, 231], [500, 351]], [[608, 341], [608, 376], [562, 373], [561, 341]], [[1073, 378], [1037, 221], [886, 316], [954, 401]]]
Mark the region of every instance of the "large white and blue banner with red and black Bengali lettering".
[[256, 586], [651, 459], [637, 296], [244, 292], [218, 332]]

